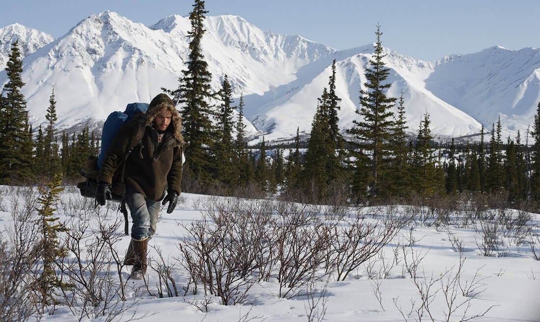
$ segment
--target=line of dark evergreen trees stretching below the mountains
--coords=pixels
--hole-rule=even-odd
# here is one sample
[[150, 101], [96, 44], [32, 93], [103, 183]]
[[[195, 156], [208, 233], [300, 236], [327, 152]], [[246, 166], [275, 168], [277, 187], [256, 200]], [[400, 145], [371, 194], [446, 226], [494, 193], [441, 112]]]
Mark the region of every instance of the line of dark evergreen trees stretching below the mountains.
[[[375, 51], [360, 90], [360, 116], [349, 129], [339, 128], [341, 98], [336, 94], [336, 62], [328, 86], [317, 99], [311, 133], [294, 143], [265, 142], [249, 146], [244, 98], [233, 106], [232, 85], [221, 77], [218, 92], [211, 89], [201, 40], [205, 29], [204, 1], [195, 0], [190, 13], [190, 54], [177, 89], [163, 90], [180, 97], [184, 115], [186, 164], [183, 190], [199, 193], [276, 193], [312, 202], [341, 196], [362, 203], [384, 198], [423, 197], [460, 192], [505, 192], [510, 202], [540, 199], [540, 103], [532, 130], [503, 139], [501, 120], [484, 128], [480, 142], [456, 144], [434, 141], [430, 115], [425, 113], [415, 135], [407, 127], [403, 95], [387, 96], [389, 69], [377, 25]], [[17, 42], [6, 67], [9, 82], [0, 96], [0, 184], [32, 183], [56, 173], [76, 178], [89, 155], [99, 152], [99, 139], [88, 128], [58, 138], [56, 97], [52, 90], [46, 125], [37, 134], [29, 124], [21, 88], [22, 59]], [[234, 110], [237, 110], [234, 116]], [[397, 111], [397, 112], [394, 112]], [[59, 143], [60, 140], [60, 143]]]

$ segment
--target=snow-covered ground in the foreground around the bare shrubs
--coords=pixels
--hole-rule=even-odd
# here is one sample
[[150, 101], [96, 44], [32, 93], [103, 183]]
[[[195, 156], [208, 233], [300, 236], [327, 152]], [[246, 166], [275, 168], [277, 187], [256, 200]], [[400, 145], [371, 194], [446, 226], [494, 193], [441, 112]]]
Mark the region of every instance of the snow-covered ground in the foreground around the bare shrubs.
[[[11, 213], [15, 205], [18, 205], [18, 211], [21, 211], [22, 205], [25, 204], [25, 196], [31, 196], [30, 201], [37, 199], [36, 192], [29, 194], [25, 189], [21, 188], [17, 193], [17, 189], [13, 187], [0, 187], [1, 229], [9, 229], [14, 225]], [[109, 209], [102, 207], [95, 211], [93, 203], [78, 196], [78, 190], [74, 187], [67, 187], [61, 193], [61, 199], [57, 207], [60, 222], [66, 222], [71, 227], [81, 227], [83, 223], [87, 223], [89, 234], [97, 229], [99, 223], [102, 223], [102, 226], [109, 226], [120, 219], [120, 225], [113, 236], [118, 238], [118, 241], [113, 246], [120, 256], [123, 256], [130, 238], [123, 236], [122, 214], [116, 213], [116, 203], [111, 203]], [[28, 203], [26, 204], [28, 207]], [[164, 298], [158, 298], [158, 290], [164, 291], [165, 287], [156, 271], [149, 267], [147, 287], [141, 288], [140, 286], [144, 286], [142, 281], [125, 282], [131, 266], [123, 267], [122, 276], [126, 283], [127, 298], [125, 303], [130, 305], [134, 300], [138, 302], [123, 315], [112, 320], [129, 320], [134, 314], [134, 318], [142, 317], [140, 320], [143, 321], [431, 321], [428, 314], [430, 312], [436, 321], [461, 321], [492, 307], [483, 317], [474, 320], [540, 321], [540, 261], [534, 259], [529, 244], [531, 238], [538, 240], [534, 234], [539, 232], [540, 218], [538, 214], [524, 212], [521, 213], [522, 216], [527, 218], [530, 216], [528, 229], [517, 231], [514, 226], [515, 231], [511, 232], [506, 231], [504, 225], [499, 225], [496, 239], [500, 245], [492, 256], [486, 257], [481, 255], [481, 250], [477, 246], [484, 240], [480, 221], [476, 224], [469, 222], [468, 225], [463, 225], [463, 220], [456, 219], [467, 217], [465, 212], [451, 213], [447, 217], [450, 218], [449, 224], [440, 225], [434, 221], [433, 213], [420, 207], [365, 207], [350, 209], [342, 216], [333, 216], [323, 207], [316, 210], [318, 213], [310, 217], [311, 219], [303, 226], [311, 225], [313, 228], [315, 223], [319, 222], [334, 225], [333, 227], [340, 230], [348, 227], [346, 223], [363, 218], [365, 222], [362, 223], [376, 223], [377, 227], [383, 227], [382, 222], [384, 218], [389, 218], [389, 214], [394, 219], [410, 220], [400, 222], [401, 229], [386, 246], [382, 247], [382, 252], [352, 270], [345, 280], [337, 280], [335, 272], [324, 276], [319, 270], [320, 280], [298, 287], [295, 291], [300, 292], [300, 295], [296, 297], [289, 299], [279, 297], [280, 283], [275, 271], [279, 269], [277, 264], [270, 278], [251, 286], [242, 304], [221, 305], [220, 298], [210, 294], [205, 296], [203, 286], [200, 284], [196, 295], [192, 292], [193, 284], [190, 291], [184, 294], [183, 287], [188, 284], [190, 274], [181, 265], [183, 255], [178, 247], [180, 240], [184, 240], [184, 243], [187, 243], [186, 240], [193, 240], [187, 229], [203, 218], [207, 220], [208, 226], [215, 224], [209, 217], [210, 208], [217, 205], [228, 207], [233, 204], [241, 204], [243, 210], [252, 205], [253, 210], [256, 208], [254, 205], [261, 206], [264, 202], [242, 200], [238, 203], [238, 199], [183, 193], [176, 210], [171, 214], [163, 210], [157, 233], [149, 243], [149, 256], [157, 259], [157, 249], [161, 251], [165, 263], [173, 266], [171, 276], [181, 294], [178, 297], [167, 297], [165, 292]], [[272, 218], [277, 218], [278, 222], [285, 218], [284, 214], [278, 213], [279, 207], [274, 205], [274, 211], [270, 214]], [[289, 208], [292, 209], [294, 207]], [[309, 207], [307, 209], [312, 210]], [[255, 216], [255, 213], [256, 211], [253, 211], [249, 216]], [[497, 211], [484, 212], [489, 213], [495, 213], [495, 218], [501, 214]], [[359, 214], [360, 217], [357, 217]], [[518, 214], [517, 211], [505, 212], [505, 216], [509, 218], [517, 218]], [[441, 216], [441, 213], [438, 215]], [[525, 238], [517, 238], [520, 233]], [[266, 241], [261, 240], [261, 243], [264, 242]], [[453, 246], [457, 250], [460, 245], [461, 254], [453, 250]], [[83, 244], [80, 246], [83, 247], [84, 253], [86, 246]], [[415, 263], [418, 263], [416, 270], [414, 270]], [[462, 263], [461, 270], [460, 263]], [[153, 262], [151, 266], [156, 267], [157, 263]], [[109, 274], [113, 284], [118, 285], [116, 265], [109, 267], [110, 272], [100, 271], [99, 275]], [[414, 274], [416, 278], [413, 278]], [[256, 278], [255, 275], [251, 277]], [[161, 288], [159, 284], [162, 284]], [[171, 283], [168, 285], [172, 288]], [[244, 286], [240, 287], [241, 290], [242, 287]], [[311, 295], [302, 295], [306, 291], [311, 291], [309, 292]], [[284, 290], [281, 292], [284, 293]], [[422, 311], [416, 311], [422, 310], [420, 292], [427, 298], [427, 306], [423, 307], [421, 319], [418, 312]], [[468, 293], [468, 297], [463, 296], [464, 293]], [[453, 307], [462, 303], [463, 305], [447, 319], [449, 312], [447, 300], [451, 299], [454, 299]], [[59, 301], [63, 300], [60, 296]], [[314, 309], [311, 310], [310, 307]], [[467, 313], [463, 317], [464, 308], [467, 308]], [[116, 309], [122, 311], [118, 306]], [[71, 310], [65, 305], [57, 305], [54, 314], [45, 314], [43, 321], [78, 320], [80, 316], [78, 310], [80, 305]], [[107, 320], [107, 314], [83, 317], [83, 320]]]

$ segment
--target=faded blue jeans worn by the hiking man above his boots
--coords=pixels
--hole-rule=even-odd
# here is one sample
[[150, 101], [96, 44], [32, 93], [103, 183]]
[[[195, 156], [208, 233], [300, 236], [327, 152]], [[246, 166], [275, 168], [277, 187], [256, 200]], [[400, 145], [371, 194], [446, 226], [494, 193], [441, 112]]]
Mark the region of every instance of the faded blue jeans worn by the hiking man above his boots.
[[126, 184], [126, 204], [130, 209], [131, 238], [144, 240], [156, 233], [160, 204], [145, 199], [143, 194]]

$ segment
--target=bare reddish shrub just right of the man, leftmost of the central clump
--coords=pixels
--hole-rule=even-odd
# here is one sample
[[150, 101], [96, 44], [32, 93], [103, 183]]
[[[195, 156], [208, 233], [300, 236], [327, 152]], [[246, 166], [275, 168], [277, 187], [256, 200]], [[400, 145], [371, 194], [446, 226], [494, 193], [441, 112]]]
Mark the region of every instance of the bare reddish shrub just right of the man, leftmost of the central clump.
[[247, 299], [255, 283], [250, 274], [257, 266], [257, 247], [264, 236], [265, 228], [258, 226], [264, 223], [253, 220], [240, 204], [236, 198], [207, 198], [203, 219], [184, 226], [187, 238], [179, 244], [181, 263], [190, 272], [195, 290], [202, 284], [205, 295], [219, 297], [223, 305]]

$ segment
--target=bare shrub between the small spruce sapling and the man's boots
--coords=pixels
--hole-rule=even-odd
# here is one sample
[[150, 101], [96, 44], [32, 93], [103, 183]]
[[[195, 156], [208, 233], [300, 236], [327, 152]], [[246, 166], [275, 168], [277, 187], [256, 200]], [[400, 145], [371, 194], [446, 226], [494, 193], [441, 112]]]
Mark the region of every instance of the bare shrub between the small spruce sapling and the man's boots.
[[[122, 277], [123, 263], [114, 244], [121, 238], [117, 230], [122, 221], [116, 219], [106, 224], [105, 216], [98, 216], [98, 226], [92, 227], [89, 221], [73, 219], [65, 232], [64, 247], [68, 256], [57, 259], [58, 279], [71, 285], [62, 289], [65, 304], [70, 307], [79, 320], [105, 317], [107, 321], [123, 317], [127, 310], [138, 305], [139, 297], [126, 301], [126, 284]], [[113, 250], [113, 251], [111, 251]], [[119, 282], [115, 276], [119, 277]], [[131, 292], [140, 292], [134, 286]], [[133, 315], [127, 320], [141, 317]]]

